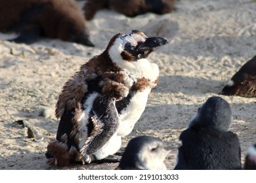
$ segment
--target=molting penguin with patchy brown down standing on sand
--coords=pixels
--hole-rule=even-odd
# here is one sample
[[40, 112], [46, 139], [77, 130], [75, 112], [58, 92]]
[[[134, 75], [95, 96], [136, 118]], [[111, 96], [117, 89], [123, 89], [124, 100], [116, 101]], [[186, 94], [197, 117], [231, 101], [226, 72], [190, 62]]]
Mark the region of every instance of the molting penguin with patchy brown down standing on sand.
[[90, 163], [119, 150], [158, 83], [158, 65], [146, 58], [167, 42], [137, 30], [118, 33], [102, 54], [81, 65], [56, 103], [60, 123], [56, 140], [47, 146], [50, 164]]

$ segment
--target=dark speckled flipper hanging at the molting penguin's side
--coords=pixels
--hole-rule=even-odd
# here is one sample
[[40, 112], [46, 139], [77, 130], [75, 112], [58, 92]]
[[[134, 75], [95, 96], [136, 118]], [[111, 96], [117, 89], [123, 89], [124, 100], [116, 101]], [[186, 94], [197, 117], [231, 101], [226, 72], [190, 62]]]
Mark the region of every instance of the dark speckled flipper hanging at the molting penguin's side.
[[[119, 118], [116, 109], [116, 99], [113, 97], [107, 96], [99, 96], [95, 99], [93, 103], [93, 112], [95, 114], [97, 123], [102, 124], [102, 129], [100, 132], [91, 139], [88, 146], [83, 146], [81, 148], [82, 154], [93, 154], [106, 142], [110, 140], [110, 138], [116, 133], [117, 128], [119, 126]], [[86, 152], [83, 153], [85, 151]]]

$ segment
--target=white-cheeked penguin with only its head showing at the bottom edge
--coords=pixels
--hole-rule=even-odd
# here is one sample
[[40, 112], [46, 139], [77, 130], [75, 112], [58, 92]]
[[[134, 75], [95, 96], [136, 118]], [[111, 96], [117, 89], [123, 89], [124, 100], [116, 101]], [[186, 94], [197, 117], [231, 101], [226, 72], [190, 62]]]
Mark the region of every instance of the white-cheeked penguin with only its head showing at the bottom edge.
[[131, 139], [125, 148], [117, 170], [165, 170], [167, 154], [179, 148], [178, 143], [164, 142], [142, 135]]

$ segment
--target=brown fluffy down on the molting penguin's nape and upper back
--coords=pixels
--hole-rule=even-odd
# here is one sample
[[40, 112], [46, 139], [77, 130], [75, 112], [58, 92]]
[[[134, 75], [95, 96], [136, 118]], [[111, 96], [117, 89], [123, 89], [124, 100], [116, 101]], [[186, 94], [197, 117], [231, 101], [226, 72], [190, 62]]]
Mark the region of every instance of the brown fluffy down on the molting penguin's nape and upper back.
[[[118, 36], [119, 34], [110, 40], [106, 50], [114, 44]], [[65, 108], [68, 110], [72, 108], [81, 109], [81, 100], [85, 93], [88, 92], [87, 82], [95, 79], [97, 76], [104, 81], [102, 84], [103, 88], [105, 87], [106, 90], [104, 94], [110, 94], [111, 92], [113, 94], [119, 93], [118, 90], [120, 90], [122, 86], [121, 82], [123, 81], [119, 71], [121, 71], [121, 68], [117, 67], [117, 65], [112, 62], [107, 51], [104, 51], [99, 56], [95, 56], [87, 63], [81, 65], [79, 71], [66, 82], [58, 97], [55, 110], [56, 117], [60, 118], [64, 114]], [[107, 90], [112, 86], [112, 84], [109, 84], [110, 82], [112, 82], [112, 84], [117, 82], [120, 84], [120, 87], [116, 88], [116, 91]], [[122, 87], [125, 88], [124, 85]], [[80, 106], [77, 107], [77, 104], [80, 104]]]

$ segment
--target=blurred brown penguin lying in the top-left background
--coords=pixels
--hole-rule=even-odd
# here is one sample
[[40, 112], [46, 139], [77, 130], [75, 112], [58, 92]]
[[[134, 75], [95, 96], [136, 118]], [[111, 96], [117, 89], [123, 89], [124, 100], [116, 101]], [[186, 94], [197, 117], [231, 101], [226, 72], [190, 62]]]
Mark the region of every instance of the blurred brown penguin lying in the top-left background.
[[31, 44], [43, 36], [94, 46], [74, 0], [0, 0], [0, 31], [19, 33], [10, 40], [18, 43]]

